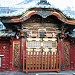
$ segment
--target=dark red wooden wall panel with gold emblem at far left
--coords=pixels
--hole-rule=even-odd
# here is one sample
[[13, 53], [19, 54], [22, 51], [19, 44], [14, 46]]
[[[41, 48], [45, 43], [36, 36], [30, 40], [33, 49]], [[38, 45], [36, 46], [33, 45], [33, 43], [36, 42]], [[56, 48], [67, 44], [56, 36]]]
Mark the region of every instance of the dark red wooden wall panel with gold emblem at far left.
[[0, 55], [1, 57], [1, 66], [0, 69], [8, 70], [10, 63], [10, 54], [9, 54], [10, 46], [8, 43], [0, 43]]

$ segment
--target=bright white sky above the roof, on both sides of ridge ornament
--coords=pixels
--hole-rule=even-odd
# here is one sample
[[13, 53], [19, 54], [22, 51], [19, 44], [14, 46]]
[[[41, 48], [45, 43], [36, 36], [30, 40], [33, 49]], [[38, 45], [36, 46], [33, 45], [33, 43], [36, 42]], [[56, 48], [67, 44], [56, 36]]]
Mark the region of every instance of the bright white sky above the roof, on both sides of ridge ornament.
[[[0, 6], [13, 6], [16, 5], [24, 0], [0, 0]], [[25, 0], [25, 2], [29, 2], [32, 0]], [[39, 0], [33, 0], [33, 1], [39, 1]], [[56, 5], [56, 7], [65, 8], [67, 6], [70, 6], [72, 9], [75, 9], [75, 0], [47, 0], [53, 5]]]

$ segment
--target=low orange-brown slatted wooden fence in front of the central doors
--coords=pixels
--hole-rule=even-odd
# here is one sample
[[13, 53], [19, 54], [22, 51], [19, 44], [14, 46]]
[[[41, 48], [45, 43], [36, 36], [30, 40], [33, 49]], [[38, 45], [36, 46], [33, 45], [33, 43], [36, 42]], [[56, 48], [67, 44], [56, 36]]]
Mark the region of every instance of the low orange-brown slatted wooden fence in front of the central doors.
[[61, 54], [51, 52], [23, 52], [23, 71], [45, 72], [61, 70]]

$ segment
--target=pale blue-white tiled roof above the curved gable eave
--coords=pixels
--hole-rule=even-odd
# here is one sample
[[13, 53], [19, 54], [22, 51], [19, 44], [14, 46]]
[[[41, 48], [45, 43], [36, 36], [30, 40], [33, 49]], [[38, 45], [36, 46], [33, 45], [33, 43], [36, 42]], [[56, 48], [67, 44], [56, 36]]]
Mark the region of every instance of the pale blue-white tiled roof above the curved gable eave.
[[65, 14], [69, 18], [75, 19], [75, 10], [71, 9], [71, 7], [66, 7], [62, 9], [61, 7], [57, 7], [56, 5], [52, 5], [49, 0], [24, 0], [21, 3], [18, 3], [12, 7], [0, 7], [0, 17], [2, 16], [18, 16], [25, 13], [30, 8], [55, 8], [60, 10], [63, 14]]

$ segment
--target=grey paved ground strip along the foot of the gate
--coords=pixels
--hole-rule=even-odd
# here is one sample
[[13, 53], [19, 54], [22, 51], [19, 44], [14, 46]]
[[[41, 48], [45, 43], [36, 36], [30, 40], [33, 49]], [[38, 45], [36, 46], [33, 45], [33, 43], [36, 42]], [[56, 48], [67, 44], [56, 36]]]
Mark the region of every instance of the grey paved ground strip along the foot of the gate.
[[75, 75], [75, 71], [56, 72], [38, 72], [38, 73], [23, 73], [23, 72], [0, 72], [0, 75]]

